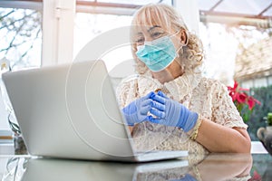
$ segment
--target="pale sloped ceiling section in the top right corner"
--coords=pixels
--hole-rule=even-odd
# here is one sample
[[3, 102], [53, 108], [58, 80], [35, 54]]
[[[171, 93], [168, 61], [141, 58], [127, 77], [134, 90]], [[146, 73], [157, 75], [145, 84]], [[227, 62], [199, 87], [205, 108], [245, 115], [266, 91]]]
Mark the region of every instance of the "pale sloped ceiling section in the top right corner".
[[272, 0], [197, 0], [201, 22], [272, 27]]

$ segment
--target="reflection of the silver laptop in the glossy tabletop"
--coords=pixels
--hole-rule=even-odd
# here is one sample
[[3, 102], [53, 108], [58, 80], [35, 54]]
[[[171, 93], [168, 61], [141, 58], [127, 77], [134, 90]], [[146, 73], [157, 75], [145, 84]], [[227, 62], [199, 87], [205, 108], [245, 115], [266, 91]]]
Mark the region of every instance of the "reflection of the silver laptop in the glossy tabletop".
[[67, 159], [21, 159], [22, 181], [89, 180], [181, 180], [191, 167], [187, 160], [167, 160], [144, 164], [93, 162]]

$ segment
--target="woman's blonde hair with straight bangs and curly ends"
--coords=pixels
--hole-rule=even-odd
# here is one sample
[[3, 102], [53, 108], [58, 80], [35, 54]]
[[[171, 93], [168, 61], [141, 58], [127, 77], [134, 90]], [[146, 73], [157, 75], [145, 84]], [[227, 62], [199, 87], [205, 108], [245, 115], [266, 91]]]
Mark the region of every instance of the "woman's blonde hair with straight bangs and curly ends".
[[170, 5], [149, 4], [142, 6], [133, 16], [131, 22], [131, 51], [136, 62], [136, 71], [144, 74], [149, 71], [148, 67], [136, 56], [137, 44], [133, 41], [135, 28], [139, 25], [158, 25], [165, 30], [178, 32], [184, 30], [187, 34], [188, 43], [179, 51], [180, 65], [185, 72], [193, 72], [203, 62], [203, 46], [196, 34], [189, 33], [181, 15]]

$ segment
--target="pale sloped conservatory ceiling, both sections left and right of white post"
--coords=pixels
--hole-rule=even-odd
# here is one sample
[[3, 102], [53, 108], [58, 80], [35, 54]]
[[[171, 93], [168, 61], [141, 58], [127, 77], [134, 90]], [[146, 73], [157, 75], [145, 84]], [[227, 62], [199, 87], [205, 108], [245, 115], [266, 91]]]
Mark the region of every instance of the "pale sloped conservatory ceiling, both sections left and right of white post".
[[[141, 5], [173, 0], [76, 0], [78, 12], [133, 14]], [[197, 0], [201, 22], [272, 27], [272, 0]]]

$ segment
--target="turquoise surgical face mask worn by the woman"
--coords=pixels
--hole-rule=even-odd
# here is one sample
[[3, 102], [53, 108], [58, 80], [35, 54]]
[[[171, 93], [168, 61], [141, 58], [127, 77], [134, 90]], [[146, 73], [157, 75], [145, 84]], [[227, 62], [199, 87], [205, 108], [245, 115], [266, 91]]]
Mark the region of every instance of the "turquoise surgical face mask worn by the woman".
[[136, 55], [151, 71], [162, 71], [175, 60], [177, 52], [167, 35], [138, 46]]

